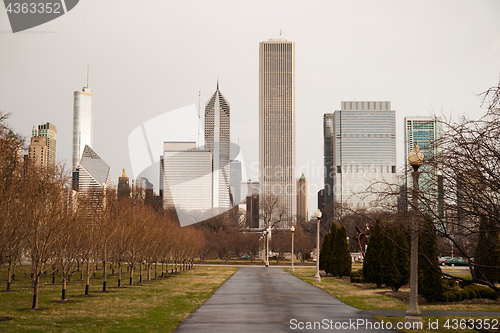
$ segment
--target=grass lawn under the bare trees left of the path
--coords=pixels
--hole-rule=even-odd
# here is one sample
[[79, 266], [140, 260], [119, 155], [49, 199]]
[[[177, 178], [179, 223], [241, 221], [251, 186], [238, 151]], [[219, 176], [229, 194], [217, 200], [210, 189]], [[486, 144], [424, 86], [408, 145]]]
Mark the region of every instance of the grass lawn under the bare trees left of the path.
[[[108, 276], [108, 292], [103, 293], [102, 279], [91, 280], [90, 297], [83, 296], [84, 281], [74, 275], [68, 284], [68, 302], [60, 303], [61, 281], [52, 276], [42, 278], [39, 307], [31, 307], [30, 281], [16, 270], [13, 291], [5, 292], [6, 268], [0, 268], [0, 332], [170, 332], [182, 320], [205, 302], [235, 272], [235, 267], [195, 267], [169, 278], [124, 284], [129, 277], [122, 275], [122, 288], [116, 288], [117, 278]], [[108, 271], [109, 272], [109, 271]], [[144, 278], [144, 277], [143, 277]]]

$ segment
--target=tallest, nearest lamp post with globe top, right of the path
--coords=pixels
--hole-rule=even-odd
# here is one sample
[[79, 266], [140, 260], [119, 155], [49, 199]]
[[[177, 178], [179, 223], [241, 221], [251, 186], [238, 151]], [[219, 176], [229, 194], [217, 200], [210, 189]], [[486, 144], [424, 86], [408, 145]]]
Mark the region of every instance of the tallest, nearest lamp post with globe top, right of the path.
[[418, 168], [424, 162], [424, 154], [415, 145], [408, 154], [408, 162], [413, 167], [413, 216], [411, 219], [411, 273], [410, 273], [410, 306], [406, 310], [405, 322], [423, 323], [422, 313], [418, 308]]

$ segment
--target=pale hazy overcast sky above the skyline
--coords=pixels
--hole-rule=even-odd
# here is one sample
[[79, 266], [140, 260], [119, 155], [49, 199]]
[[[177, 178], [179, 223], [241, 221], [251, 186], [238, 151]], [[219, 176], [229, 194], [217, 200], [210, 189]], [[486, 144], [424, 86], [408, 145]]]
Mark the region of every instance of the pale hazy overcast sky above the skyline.
[[324, 113], [344, 100], [388, 100], [403, 119], [483, 114], [475, 94], [500, 74], [500, 1], [80, 0], [62, 17], [13, 34], [0, 8], [0, 111], [26, 136], [58, 128], [57, 159], [71, 165], [73, 92], [94, 93], [93, 148], [130, 170], [128, 135], [145, 121], [202, 106], [217, 77], [231, 104], [231, 140], [258, 179], [259, 42], [296, 43], [297, 177], [309, 214], [323, 186]]

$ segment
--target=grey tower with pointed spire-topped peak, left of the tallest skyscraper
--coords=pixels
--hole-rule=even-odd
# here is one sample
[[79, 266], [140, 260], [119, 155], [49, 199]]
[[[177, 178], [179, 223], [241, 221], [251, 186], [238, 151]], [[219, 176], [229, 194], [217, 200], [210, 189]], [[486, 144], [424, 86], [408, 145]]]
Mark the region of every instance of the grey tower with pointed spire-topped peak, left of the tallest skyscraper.
[[213, 207], [229, 208], [230, 166], [230, 106], [217, 89], [205, 104], [205, 146], [213, 158]]

